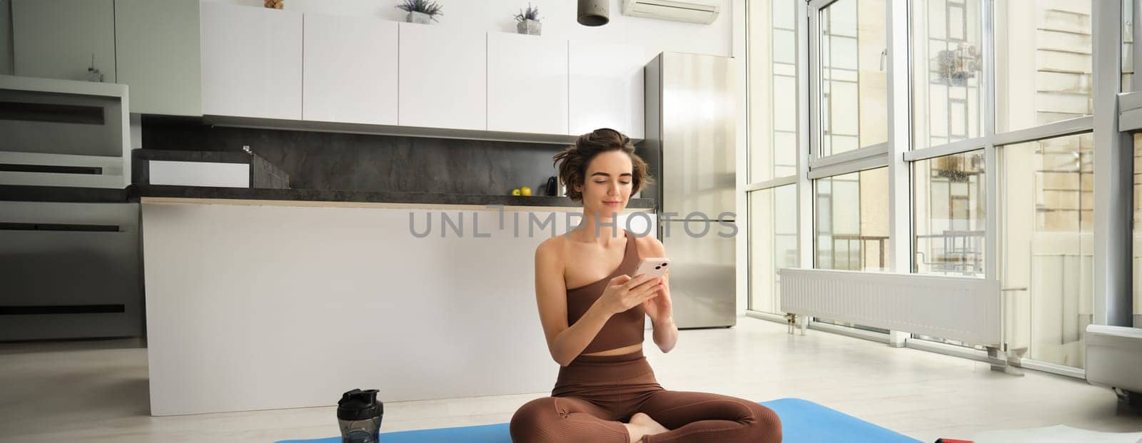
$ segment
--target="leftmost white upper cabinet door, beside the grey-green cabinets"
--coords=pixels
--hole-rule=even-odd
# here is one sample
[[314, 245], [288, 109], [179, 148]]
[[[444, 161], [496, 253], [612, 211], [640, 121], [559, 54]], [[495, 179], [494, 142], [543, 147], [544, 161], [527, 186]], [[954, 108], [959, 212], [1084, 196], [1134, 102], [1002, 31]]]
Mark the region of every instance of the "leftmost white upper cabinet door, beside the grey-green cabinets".
[[301, 119], [301, 13], [202, 2], [202, 113]]

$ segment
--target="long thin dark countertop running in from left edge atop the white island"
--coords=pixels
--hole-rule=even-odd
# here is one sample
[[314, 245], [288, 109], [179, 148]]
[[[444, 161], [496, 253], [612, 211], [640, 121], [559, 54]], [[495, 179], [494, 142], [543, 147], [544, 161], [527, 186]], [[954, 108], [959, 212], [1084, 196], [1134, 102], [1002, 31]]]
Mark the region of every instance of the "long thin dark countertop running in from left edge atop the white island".
[[[0, 185], [0, 200], [123, 203], [137, 202], [139, 198], [170, 199], [228, 199], [228, 200], [278, 200], [315, 202], [362, 202], [362, 203], [423, 203], [423, 204], [502, 204], [524, 207], [579, 207], [565, 196], [515, 196], [483, 194], [447, 194], [431, 192], [368, 192], [323, 190], [271, 190], [246, 187], [210, 186], [164, 186], [131, 185], [126, 190], [104, 190], [61, 186]], [[652, 199], [630, 199], [628, 209], [652, 209]]]

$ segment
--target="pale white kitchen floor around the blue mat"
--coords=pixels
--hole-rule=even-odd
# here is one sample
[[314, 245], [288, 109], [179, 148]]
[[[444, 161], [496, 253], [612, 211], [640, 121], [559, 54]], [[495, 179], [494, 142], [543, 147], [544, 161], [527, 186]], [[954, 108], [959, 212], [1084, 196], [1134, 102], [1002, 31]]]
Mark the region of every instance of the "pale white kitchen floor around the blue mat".
[[[332, 406], [150, 417], [146, 349], [137, 346], [0, 344], [0, 441], [267, 443], [338, 433]], [[644, 346], [667, 389], [801, 397], [923, 442], [1048, 425], [1142, 430], [1142, 417], [1116, 414], [1110, 390], [1081, 380], [1012, 377], [980, 362], [814, 330], [789, 336], [751, 317], [732, 329], [681, 331], [669, 354], [649, 337]], [[385, 403], [383, 430], [506, 422], [520, 404], [548, 394]], [[340, 393], [329, 396], [336, 403]]]

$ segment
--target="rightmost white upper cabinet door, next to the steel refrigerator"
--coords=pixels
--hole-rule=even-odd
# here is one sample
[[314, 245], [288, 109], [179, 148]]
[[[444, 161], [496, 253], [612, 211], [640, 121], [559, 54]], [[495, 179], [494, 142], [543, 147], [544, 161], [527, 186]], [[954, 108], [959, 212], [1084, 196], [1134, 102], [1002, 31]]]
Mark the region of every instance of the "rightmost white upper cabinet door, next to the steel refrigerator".
[[612, 128], [643, 138], [643, 66], [640, 46], [570, 41], [570, 134]]

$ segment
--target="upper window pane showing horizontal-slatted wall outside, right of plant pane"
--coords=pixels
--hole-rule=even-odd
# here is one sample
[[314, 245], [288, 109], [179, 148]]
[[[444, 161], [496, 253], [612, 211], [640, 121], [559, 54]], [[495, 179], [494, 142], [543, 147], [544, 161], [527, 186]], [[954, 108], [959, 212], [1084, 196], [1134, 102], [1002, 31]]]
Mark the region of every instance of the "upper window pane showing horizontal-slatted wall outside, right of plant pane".
[[996, 127], [1037, 127], [1092, 112], [1091, 0], [995, 2]]

